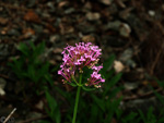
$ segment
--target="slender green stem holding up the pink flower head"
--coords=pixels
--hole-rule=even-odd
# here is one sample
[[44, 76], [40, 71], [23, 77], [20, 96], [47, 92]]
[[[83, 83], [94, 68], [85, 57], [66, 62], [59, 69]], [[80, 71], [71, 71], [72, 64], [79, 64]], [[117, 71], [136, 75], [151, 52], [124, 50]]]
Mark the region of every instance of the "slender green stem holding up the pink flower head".
[[79, 103], [79, 95], [80, 95], [80, 89], [81, 89], [81, 81], [82, 81], [82, 74], [80, 74], [80, 78], [79, 78], [79, 86], [78, 86], [78, 90], [77, 90], [77, 97], [75, 97], [75, 104], [74, 104], [74, 112], [73, 112], [72, 123], [75, 123], [77, 111], [78, 111], [78, 103]]

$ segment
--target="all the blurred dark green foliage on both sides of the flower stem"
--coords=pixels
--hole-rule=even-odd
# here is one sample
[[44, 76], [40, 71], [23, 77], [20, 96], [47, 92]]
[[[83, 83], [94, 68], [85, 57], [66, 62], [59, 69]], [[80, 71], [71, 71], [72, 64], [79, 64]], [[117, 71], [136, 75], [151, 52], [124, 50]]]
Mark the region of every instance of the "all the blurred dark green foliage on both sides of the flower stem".
[[[44, 52], [45, 44], [42, 42], [35, 46], [33, 42], [30, 45], [20, 44], [17, 47], [21, 56], [19, 59], [13, 59], [9, 63], [12, 71], [22, 83], [33, 83], [32, 89], [39, 91], [45, 90], [45, 97], [47, 100], [46, 113], [49, 119], [42, 120], [39, 123], [70, 123], [72, 121], [72, 112], [74, 107], [75, 91], [66, 91], [59, 87], [52, 85], [52, 78], [49, 73], [49, 63], [42, 62], [40, 54]], [[80, 96], [80, 103], [78, 110], [77, 123], [110, 123], [113, 119], [116, 119], [118, 123], [164, 123], [164, 110], [161, 110], [160, 114], [154, 114], [153, 108], [151, 107], [147, 113], [141, 110], [138, 112], [130, 112], [125, 115], [125, 112], [119, 109], [119, 104], [122, 98], [116, 98], [117, 94], [124, 89], [119, 86], [118, 82], [121, 78], [121, 73], [115, 74], [112, 69], [115, 56], [112, 54], [103, 63], [101, 74], [105, 78], [105, 83], [102, 88], [86, 88], [82, 86], [83, 90]], [[59, 65], [56, 66], [51, 72], [56, 72]], [[87, 67], [84, 69], [83, 83], [92, 73]], [[51, 85], [62, 98], [65, 102], [57, 102], [57, 100], [49, 94], [47, 82]], [[159, 85], [164, 88], [164, 83], [159, 82]], [[71, 83], [75, 86], [74, 83]], [[77, 88], [77, 87], [74, 87]], [[152, 88], [153, 89], [153, 88]], [[75, 90], [75, 89], [74, 89]], [[93, 91], [91, 91], [93, 90]], [[153, 89], [154, 90], [154, 89]], [[163, 96], [154, 90], [156, 98], [164, 104]], [[60, 113], [61, 104], [68, 102], [69, 108], [67, 113]], [[61, 119], [65, 118], [65, 119]]]

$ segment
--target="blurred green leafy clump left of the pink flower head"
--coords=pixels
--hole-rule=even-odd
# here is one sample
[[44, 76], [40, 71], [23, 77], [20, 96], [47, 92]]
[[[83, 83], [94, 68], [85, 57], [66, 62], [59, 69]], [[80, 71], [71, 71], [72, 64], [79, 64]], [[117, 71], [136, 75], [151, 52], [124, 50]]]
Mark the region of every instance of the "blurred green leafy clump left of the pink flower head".
[[[12, 71], [22, 83], [32, 83], [32, 89], [44, 90], [47, 82], [51, 84], [51, 77], [49, 74], [49, 63], [43, 62], [40, 59], [42, 53], [45, 50], [45, 42], [35, 46], [32, 41], [28, 45], [20, 44], [17, 47], [20, 57], [13, 59], [9, 63]], [[24, 88], [23, 88], [24, 89]]]

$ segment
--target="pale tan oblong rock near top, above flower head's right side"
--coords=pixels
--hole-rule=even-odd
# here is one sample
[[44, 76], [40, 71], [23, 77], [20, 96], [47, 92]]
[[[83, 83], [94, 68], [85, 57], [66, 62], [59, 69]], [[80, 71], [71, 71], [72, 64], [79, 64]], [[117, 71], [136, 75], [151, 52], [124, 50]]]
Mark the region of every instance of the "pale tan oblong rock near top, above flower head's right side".
[[89, 13], [86, 13], [86, 19], [89, 21], [96, 21], [96, 20], [101, 19], [101, 14], [97, 12], [89, 12]]

